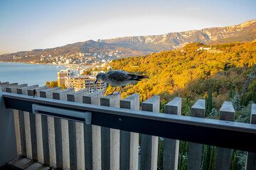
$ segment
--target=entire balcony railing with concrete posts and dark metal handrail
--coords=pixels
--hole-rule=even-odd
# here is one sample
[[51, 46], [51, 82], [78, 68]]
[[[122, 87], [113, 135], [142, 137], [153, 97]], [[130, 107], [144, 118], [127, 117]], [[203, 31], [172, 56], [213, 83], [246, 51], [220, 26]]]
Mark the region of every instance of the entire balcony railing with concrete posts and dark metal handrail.
[[0, 85], [0, 166], [23, 156], [57, 169], [157, 169], [161, 137], [163, 169], [178, 169], [179, 140], [189, 142], [188, 169], [201, 169], [203, 144], [217, 146], [215, 169], [229, 169], [231, 149], [247, 151], [246, 169], [255, 169], [255, 104], [249, 124], [234, 122], [235, 110], [227, 101], [221, 120], [213, 120], [204, 118], [202, 99], [191, 116], [183, 116], [181, 98], [159, 113], [159, 96], [140, 107], [139, 94], [121, 99], [104, 91]]

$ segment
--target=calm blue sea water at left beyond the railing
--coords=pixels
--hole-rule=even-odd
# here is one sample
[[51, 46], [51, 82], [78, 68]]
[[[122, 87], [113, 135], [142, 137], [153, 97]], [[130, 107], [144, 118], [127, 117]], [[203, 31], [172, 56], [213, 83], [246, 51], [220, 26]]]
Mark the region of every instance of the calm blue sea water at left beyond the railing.
[[58, 72], [65, 68], [65, 66], [50, 64], [0, 62], [0, 81], [43, 86], [46, 81], [57, 81]]

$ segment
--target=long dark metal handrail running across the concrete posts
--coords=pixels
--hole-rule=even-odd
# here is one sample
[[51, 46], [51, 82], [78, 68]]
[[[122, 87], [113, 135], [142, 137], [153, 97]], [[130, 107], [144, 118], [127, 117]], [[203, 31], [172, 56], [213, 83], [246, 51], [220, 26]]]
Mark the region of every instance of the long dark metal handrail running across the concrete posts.
[[[92, 125], [256, 152], [256, 125], [249, 123], [133, 111], [20, 94], [3, 93], [3, 96], [6, 108], [19, 111], [32, 113], [32, 105], [37, 104], [70, 111], [91, 112]], [[51, 113], [50, 116], [55, 115]], [[75, 120], [65, 115], [62, 117], [61, 114], [57, 117]]]

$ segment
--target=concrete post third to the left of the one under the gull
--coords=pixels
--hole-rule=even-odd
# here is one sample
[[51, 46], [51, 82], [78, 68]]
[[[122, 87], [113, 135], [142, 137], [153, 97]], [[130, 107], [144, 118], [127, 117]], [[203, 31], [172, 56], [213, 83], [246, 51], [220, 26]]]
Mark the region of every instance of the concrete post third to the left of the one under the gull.
[[[53, 92], [53, 99], [67, 101], [67, 94], [70, 93], [74, 93], [73, 88]], [[55, 147], [56, 168], [74, 169], [73, 167], [75, 166], [76, 169], [76, 153], [74, 155], [73, 153], [70, 154], [68, 120], [53, 117], [48, 117], [48, 119], [50, 119], [54, 124], [51, 130], [52, 140], [49, 140], [49, 142], [53, 142], [53, 149]], [[75, 137], [72, 140], [75, 140]], [[70, 157], [70, 155], [73, 156]]]

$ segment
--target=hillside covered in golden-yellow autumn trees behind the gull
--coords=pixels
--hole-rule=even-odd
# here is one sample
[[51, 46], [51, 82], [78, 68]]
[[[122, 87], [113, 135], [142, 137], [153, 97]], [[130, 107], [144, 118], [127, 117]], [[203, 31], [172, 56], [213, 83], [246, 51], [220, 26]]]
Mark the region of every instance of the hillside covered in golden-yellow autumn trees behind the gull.
[[138, 93], [146, 99], [160, 95], [169, 101], [171, 95], [185, 98], [205, 96], [213, 88], [215, 98], [218, 98], [218, 95], [227, 93], [231, 84], [240, 93], [247, 91], [256, 78], [255, 73], [251, 79], [244, 73], [256, 64], [256, 42], [231, 42], [212, 46], [212, 50], [198, 50], [203, 46], [197, 42], [186, 45], [182, 50], [113, 60], [110, 63], [113, 69], [150, 77], [138, 84], [125, 86], [122, 96]]

